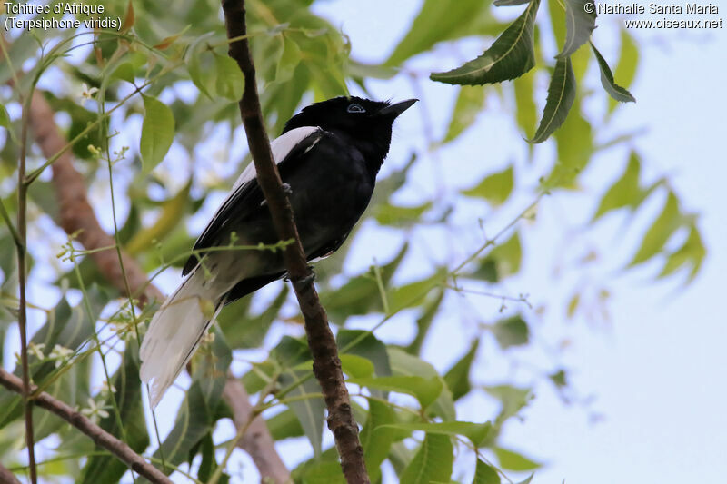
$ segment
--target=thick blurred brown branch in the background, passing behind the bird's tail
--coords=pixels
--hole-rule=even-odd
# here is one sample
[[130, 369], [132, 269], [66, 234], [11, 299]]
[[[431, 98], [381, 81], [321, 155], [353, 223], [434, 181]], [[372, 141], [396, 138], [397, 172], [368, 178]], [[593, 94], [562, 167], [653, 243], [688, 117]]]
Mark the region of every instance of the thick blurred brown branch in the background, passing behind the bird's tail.
[[[67, 143], [65, 135], [60, 132], [54, 121], [54, 112], [51, 106], [45, 101], [40, 93], [35, 93], [30, 111], [30, 126], [35, 136], [35, 142], [41, 148], [45, 157], [50, 157], [61, 150]], [[86, 195], [85, 181], [83, 176], [75, 169], [73, 155], [70, 151], [63, 153], [52, 165], [53, 183], [55, 195], [60, 207], [59, 219], [57, 222], [68, 234], [81, 231], [77, 240], [85, 249], [94, 250], [102, 247], [114, 246], [114, 237], [107, 234], [98, 223], [95, 212], [91, 207]], [[124, 271], [131, 295], [144, 306], [149, 301], [163, 301], [164, 294], [153, 284], [149, 283], [146, 273], [141, 266], [122, 250]], [[118, 260], [115, 249], [93, 252], [90, 254], [97, 265], [99, 272], [114, 287], [126, 293], [124, 273]], [[225, 385], [224, 399], [234, 411], [235, 424], [246, 422], [250, 418], [249, 396], [242, 385], [237, 384], [233, 391], [227, 391], [226, 387], [232, 385], [227, 381]], [[245, 406], [241, 401], [244, 400]], [[243, 414], [237, 414], [244, 411]], [[238, 442], [238, 447], [246, 451], [253, 458], [261, 478], [273, 479], [277, 484], [289, 482], [290, 474], [285, 468], [283, 460], [280, 459], [274, 447], [274, 440], [262, 418], [257, 417], [251, 424], [255, 429], [254, 436]], [[238, 427], [239, 429], [240, 427]]]

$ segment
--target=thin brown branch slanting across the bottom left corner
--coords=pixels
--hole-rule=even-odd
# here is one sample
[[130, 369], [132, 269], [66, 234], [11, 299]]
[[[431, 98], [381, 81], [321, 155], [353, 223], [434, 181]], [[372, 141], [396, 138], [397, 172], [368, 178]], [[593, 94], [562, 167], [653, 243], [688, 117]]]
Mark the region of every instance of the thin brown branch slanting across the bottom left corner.
[[[15, 391], [15, 393], [23, 392], [23, 380], [20, 380], [12, 373], [8, 373], [3, 369], [0, 369], [0, 384], [7, 390]], [[36, 389], [37, 387], [33, 385], [32, 390], [35, 391]], [[45, 393], [45, 391], [36, 395], [33, 401], [36, 407], [41, 407], [55, 413], [55, 415], [67, 421], [76, 429], [84, 432], [85, 435], [95, 441], [96, 445], [103, 447], [118, 459], [123, 460], [130, 469], [134, 470], [140, 476], [144, 476], [144, 478], [152, 482], [172, 484], [172, 481], [161, 470], [156, 469], [123, 441], [116, 439], [113, 435], [103, 430], [91, 420], [88, 420], [84, 415], [72, 409], [63, 401], [56, 400], [54, 397]]]

